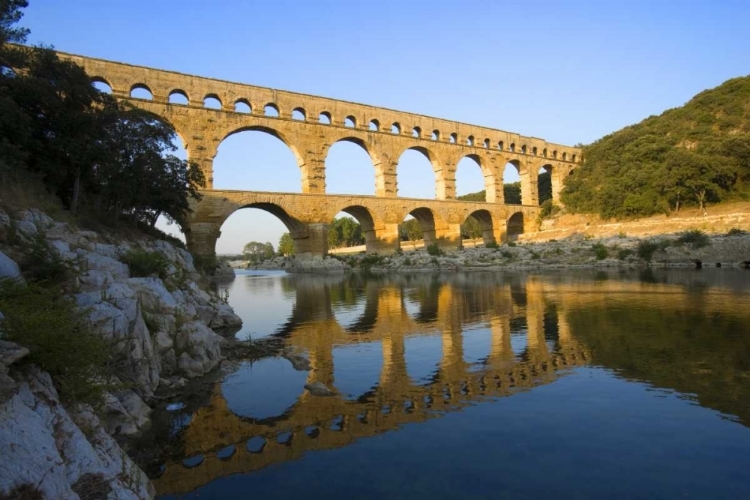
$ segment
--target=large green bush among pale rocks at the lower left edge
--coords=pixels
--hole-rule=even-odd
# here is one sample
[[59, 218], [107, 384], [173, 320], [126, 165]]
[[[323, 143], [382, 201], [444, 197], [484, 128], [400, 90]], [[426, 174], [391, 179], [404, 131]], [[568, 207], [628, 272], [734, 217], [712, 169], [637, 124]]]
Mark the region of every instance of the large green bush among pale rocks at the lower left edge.
[[85, 311], [59, 288], [0, 281], [2, 336], [29, 349], [29, 362], [49, 372], [68, 403], [97, 404], [114, 373], [112, 345], [94, 332]]

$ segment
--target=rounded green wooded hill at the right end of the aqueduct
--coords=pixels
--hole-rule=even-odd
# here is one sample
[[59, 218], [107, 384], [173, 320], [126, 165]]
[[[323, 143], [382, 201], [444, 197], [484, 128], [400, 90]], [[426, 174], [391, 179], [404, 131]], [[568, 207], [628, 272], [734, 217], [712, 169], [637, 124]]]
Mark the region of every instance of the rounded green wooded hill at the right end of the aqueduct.
[[605, 218], [750, 200], [750, 77], [584, 147], [565, 182], [569, 211]]

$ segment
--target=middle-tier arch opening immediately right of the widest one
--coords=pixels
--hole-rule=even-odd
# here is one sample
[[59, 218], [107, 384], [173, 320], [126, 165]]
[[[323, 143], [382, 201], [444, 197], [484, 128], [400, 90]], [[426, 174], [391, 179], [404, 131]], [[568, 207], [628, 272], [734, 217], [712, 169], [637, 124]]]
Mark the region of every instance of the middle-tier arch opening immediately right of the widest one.
[[[336, 147], [339, 143], [355, 144], [358, 147], [339, 149]], [[360, 167], [365, 163], [359, 152], [360, 148], [367, 155], [366, 166], [369, 176], [358, 175], [358, 172], [363, 171]], [[331, 157], [332, 151], [334, 151], [333, 157]], [[341, 137], [331, 144], [326, 153], [326, 192], [373, 195], [376, 190], [374, 179], [379, 167], [380, 158], [367, 142], [358, 137]]]

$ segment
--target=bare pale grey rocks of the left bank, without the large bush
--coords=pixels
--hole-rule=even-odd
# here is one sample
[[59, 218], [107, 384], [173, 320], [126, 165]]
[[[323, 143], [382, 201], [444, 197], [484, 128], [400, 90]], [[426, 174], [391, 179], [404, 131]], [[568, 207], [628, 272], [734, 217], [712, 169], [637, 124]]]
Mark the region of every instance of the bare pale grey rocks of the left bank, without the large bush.
[[[117, 375], [106, 385], [117, 389], [105, 392], [101, 407], [66, 407], [53, 378], [27, 361], [29, 350], [0, 341], [0, 498], [76, 499], [92, 489], [101, 493], [96, 498], [152, 498], [148, 478], [113, 436], [149, 427], [157, 391], [219, 366], [230, 342], [220, 333], [241, 320], [201, 287], [181, 248], [79, 230], [37, 210], [0, 211], [0, 278], [23, 282], [18, 263], [34, 248], [54, 252], [72, 270], [65, 289], [114, 346]], [[162, 259], [161, 276], [134, 276], [127, 263], [134, 251]]]

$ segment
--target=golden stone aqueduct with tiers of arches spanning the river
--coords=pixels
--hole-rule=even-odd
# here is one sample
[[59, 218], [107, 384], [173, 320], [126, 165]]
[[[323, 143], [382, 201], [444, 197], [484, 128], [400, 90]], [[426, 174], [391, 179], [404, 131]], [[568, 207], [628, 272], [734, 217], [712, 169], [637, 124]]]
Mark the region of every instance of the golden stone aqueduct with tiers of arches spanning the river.
[[[207, 179], [203, 199], [183, 221], [188, 246], [197, 254], [215, 251], [221, 225], [236, 210], [255, 207], [279, 217], [301, 256], [327, 253], [328, 226], [339, 212], [354, 216], [366, 237], [367, 251], [399, 248], [398, 225], [411, 214], [419, 220], [425, 243], [444, 248], [461, 244], [460, 225], [477, 219], [485, 242], [504, 241], [509, 232], [528, 229], [538, 214], [537, 174], [551, 174], [553, 200], [559, 202], [563, 179], [581, 161], [578, 148], [542, 139], [412, 113], [294, 92], [232, 83], [172, 71], [59, 53], [81, 65], [95, 82], [108, 85], [120, 100], [160, 117], [174, 127], [191, 161]], [[144, 89], [149, 99], [133, 92]], [[175, 96], [185, 102], [176, 104]], [[218, 109], [207, 101], [218, 102]], [[215, 100], [215, 101], [214, 101]], [[243, 112], [244, 110], [244, 112]], [[301, 194], [213, 189], [213, 159], [228, 136], [259, 130], [281, 139], [294, 153]], [[326, 194], [325, 158], [339, 141], [361, 146], [372, 159], [375, 196]], [[401, 154], [424, 154], [435, 175], [434, 200], [397, 196], [396, 167]], [[463, 158], [482, 171], [486, 202], [456, 200], [455, 173]], [[521, 179], [523, 205], [506, 205], [502, 175], [513, 164]]]

